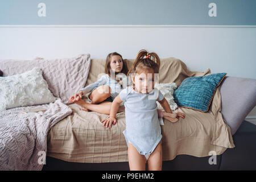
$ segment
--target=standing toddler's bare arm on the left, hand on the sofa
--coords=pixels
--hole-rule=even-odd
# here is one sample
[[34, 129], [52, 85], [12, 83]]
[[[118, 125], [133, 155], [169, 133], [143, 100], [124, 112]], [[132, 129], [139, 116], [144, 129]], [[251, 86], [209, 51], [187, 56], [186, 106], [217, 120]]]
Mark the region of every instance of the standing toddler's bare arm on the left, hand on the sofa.
[[115, 116], [117, 115], [118, 109], [119, 109], [119, 105], [122, 103], [122, 100], [120, 98], [120, 96], [118, 95], [117, 97], [115, 97], [114, 101], [112, 102], [111, 108], [110, 108], [110, 114], [109, 114], [109, 118], [106, 118], [104, 120], [102, 120], [101, 122], [103, 122], [103, 126], [106, 125], [106, 128], [111, 127], [112, 123], [115, 125], [115, 123], [117, 123], [117, 119], [115, 119]]

